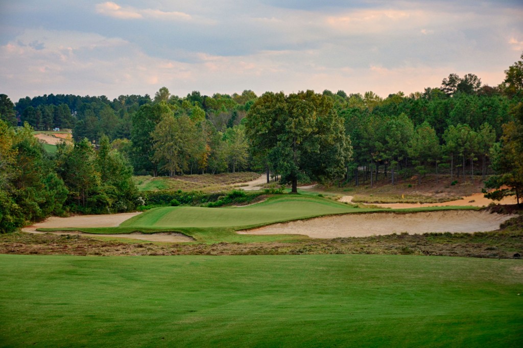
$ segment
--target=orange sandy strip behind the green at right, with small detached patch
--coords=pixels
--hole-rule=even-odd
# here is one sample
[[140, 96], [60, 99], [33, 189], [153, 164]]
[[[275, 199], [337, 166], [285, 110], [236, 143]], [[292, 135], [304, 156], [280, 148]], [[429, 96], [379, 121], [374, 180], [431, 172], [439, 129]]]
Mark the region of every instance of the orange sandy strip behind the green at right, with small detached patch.
[[[351, 203], [353, 196], [343, 196], [340, 202]], [[486, 207], [491, 203], [495, 204], [516, 204], [516, 196], [505, 197], [501, 201], [485, 198], [482, 193], [475, 193], [471, 196], [463, 197], [458, 200], [451, 200], [442, 203], [372, 203], [372, 205], [382, 208], [423, 208], [423, 207], [448, 207], [448, 206], [473, 206]]]

